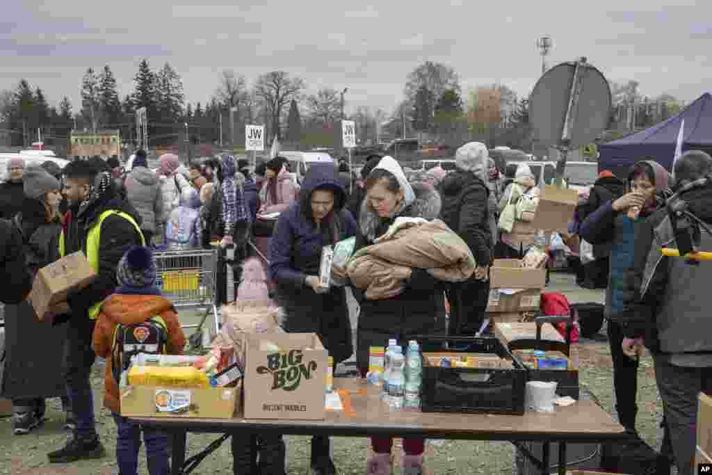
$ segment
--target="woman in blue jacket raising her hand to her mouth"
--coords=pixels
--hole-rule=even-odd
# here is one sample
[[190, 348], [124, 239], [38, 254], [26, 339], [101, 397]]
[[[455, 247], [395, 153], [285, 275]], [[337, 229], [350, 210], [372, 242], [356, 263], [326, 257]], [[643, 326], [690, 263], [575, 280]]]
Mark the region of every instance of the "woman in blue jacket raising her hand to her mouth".
[[611, 244], [611, 259], [604, 315], [613, 360], [613, 387], [619, 422], [636, 432], [638, 412], [638, 360], [623, 353], [622, 326], [610, 317], [624, 310], [625, 279], [633, 267], [635, 226], [658, 208], [656, 192], [668, 187], [669, 174], [652, 160], [635, 164], [627, 179], [627, 193], [604, 203], [582, 222], [579, 234], [594, 246]]

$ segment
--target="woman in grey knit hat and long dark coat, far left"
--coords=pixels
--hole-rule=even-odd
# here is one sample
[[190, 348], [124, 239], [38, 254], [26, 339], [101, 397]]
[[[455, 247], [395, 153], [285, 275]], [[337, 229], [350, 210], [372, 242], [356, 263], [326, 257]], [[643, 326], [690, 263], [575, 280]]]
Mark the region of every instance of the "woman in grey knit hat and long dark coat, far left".
[[[62, 195], [55, 177], [39, 167], [25, 170], [26, 199], [13, 219], [21, 235], [25, 266], [31, 275], [59, 259]], [[45, 398], [62, 397], [66, 427], [72, 428], [62, 377], [62, 351], [66, 325], [52, 328], [40, 321], [28, 301], [5, 307], [5, 362], [0, 395], [13, 402], [12, 426], [16, 435], [28, 434], [44, 420]], [[38, 352], [37, 348], [42, 348]]]

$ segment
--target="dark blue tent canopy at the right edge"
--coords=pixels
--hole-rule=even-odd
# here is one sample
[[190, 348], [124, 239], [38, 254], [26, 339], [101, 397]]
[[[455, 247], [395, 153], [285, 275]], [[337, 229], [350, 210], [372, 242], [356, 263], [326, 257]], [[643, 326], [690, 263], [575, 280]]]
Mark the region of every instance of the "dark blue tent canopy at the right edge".
[[[651, 159], [671, 171], [677, 135], [685, 120], [682, 151], [712, 152], [712, 95], [704, 93], [679, 114], [652, 127], [600, 145], [598, 169], [611, 170], [619, 177], [627, 176], [632, 165]], [[712, 154], [711, 154], [712, 155]]]

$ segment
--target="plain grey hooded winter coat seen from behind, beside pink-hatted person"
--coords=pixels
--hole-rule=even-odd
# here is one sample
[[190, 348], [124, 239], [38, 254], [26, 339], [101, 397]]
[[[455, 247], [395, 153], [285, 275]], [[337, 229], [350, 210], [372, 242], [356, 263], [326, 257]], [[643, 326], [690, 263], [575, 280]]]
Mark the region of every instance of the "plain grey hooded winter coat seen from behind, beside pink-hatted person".
[[158, 175], [146, 167], [135, 167], [127, 175], [124, 187], [128, 201], [141, 215], [141, 229], [155, 233], [157, 224], [165, 222], [161, 221], [164, 201]]

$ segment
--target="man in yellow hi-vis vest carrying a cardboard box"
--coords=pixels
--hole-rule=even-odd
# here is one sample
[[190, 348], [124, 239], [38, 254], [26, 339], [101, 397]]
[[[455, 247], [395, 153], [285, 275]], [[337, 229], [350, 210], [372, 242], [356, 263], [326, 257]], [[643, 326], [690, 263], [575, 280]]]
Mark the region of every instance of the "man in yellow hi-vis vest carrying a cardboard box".
[[82, 251], [97, 278], [88, 287], [71, 294], [70, 313], [56, 322], [69, 322], [65, 347], [67, 395], [76, 417], [76, 429], [65, 447], [48, 454], [51, 462], [95, 459], [104, 447], [95, 430], [94, 402], [89, 383], [96, 355], [92, 334], [102, 301], [116, 286], [116, 269], [123, 254], [134, 245], [145, 245], [140, 218], [114, 188], [111, 175], [99, 172], [90, 162], [73, 162], [65, 168], [64, 195], [69, 211], [60, 236], [60, 254]]

